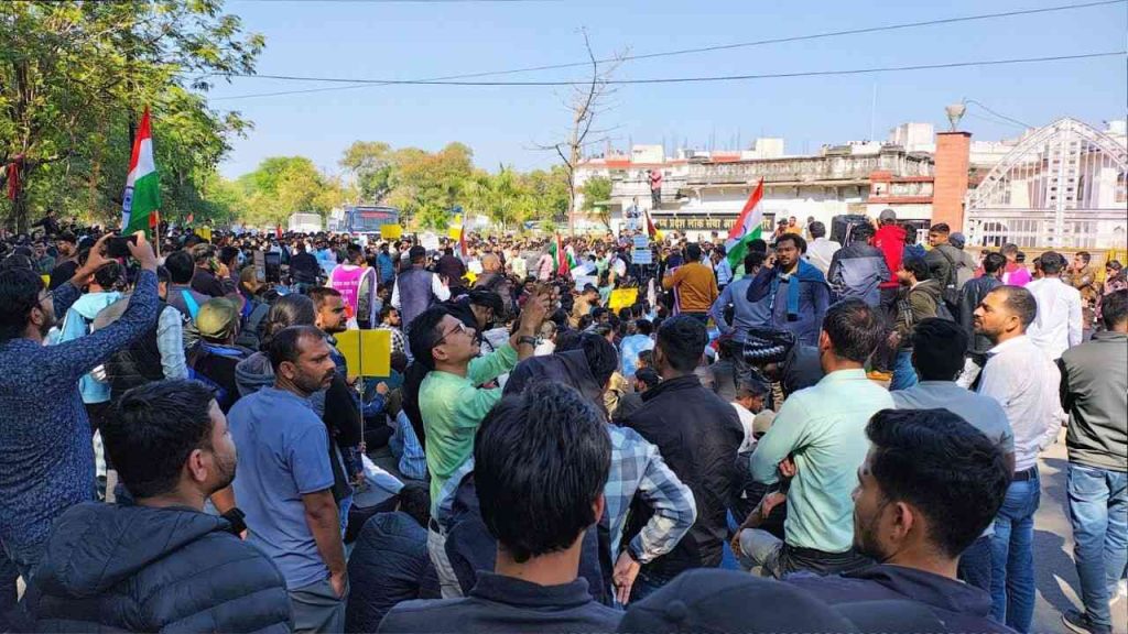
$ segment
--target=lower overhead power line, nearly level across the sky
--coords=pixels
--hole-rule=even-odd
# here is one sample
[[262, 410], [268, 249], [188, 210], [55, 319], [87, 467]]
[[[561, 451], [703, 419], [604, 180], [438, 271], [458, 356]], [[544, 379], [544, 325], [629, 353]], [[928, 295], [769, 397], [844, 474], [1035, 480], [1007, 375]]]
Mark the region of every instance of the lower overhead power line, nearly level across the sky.
[[[970, 62], [946, 62], [936, 64], [913, 64], [902, 67], [876, 67], [876, 68], [846, 69], [846, 70], [796, 71], [796, 72], [777, 72], [777, 73], [763, 73], [763, 74], [725, 74], [725, 76], [714, 76], [714, 77], [656, 77], [656, 78], [644, 78], [644, 79], [611, 79], [603, 81], [602, 83], [609, 86], [633, 86], [633, 85], [647, 85], [647, 83], [706, 83], [706, 82], [717, 82], [717, 81], [747, 81], [757, 79], [786, 79], [795, 77], [869, 74], [875, 72], [902, 72], [902, 71], [914, 71], [914, 70], [935, 70], [935, 69], [952, 69], [952, 68], [968, 68], [968, 67], [992, 67], [992, 65], [1004, 65], [1004, 64], [1057, 62], [1066, 60], [1108, 58], [1113, 55], [1125, 55], [1126, 53], [1128, 53], [1128, 51], [1110, 51], [1104, 53], [1081, 53], [1076, 55], [1052, 55], [1045, 58], [1017, 58], [1008, 60], [977, 60]], [[421, 80], [421, 79], [341, 80], [333, 78], [317, 78], [316, 80], [361, 81], [367, 85], [377, 85], [377, 86], [575, 86], [576, 83], [582, 83], [582, 81], [460, 81], [460, 80], [440, 81], [440, 80]], [[254, 95], [254, 96], [261, 96], [261, 95]], [[248, 97], [248, 95], [244, 95], [241, 97]], [[212, 100], [236, 99], [236, 98], [240, 98], [240, 96], [220, 97]]]

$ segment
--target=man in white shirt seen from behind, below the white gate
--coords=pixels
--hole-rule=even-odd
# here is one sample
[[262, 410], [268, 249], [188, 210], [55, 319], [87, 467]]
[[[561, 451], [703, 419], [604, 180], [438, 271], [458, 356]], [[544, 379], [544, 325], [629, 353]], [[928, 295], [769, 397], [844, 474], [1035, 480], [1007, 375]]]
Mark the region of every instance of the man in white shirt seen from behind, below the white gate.
[[1026, 335], [1055, 361], [1061, 353], [1081, 343], [1081, 291], [1061, 281], [1065, 257], [1051, 250], [1039, 258], [1042, 279], [1026, 284], [1038, 302], [1038, 316]]

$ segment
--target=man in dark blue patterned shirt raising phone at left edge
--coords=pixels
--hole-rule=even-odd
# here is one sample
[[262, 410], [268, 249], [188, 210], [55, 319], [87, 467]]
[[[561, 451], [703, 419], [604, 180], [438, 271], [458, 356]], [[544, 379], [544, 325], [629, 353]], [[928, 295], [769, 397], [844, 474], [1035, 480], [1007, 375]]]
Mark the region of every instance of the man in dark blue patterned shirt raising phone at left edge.
[[0, 272], [0, 543], [25, 579], [64, 510], [94, 497], [94, 448], [79, 378], [144, 334], [157, 319], [157, 256], [140, 232], [130, 254], [136, 290], [114, 324], [59, 345], [43, 340], [109, 258], [112, 235], [90, 249], [68, 283], [44, 288], [35, 272]]

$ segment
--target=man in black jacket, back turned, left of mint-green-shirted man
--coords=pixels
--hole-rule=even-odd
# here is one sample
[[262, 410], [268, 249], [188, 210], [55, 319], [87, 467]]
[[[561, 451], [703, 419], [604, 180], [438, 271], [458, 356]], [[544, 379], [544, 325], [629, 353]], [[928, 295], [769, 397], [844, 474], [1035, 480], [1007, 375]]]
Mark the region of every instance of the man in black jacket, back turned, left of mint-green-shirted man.
[[[624, 426], [658, 446], [678, 479], [689, 485], [697, 520], [670, 553], [642, 569], [632, 600], [640, 600], [691, 567], [721, 563], [728, 536], [726, 514], [734, 497], [737, 451], [743, 428], [732, 405], [702, 387], [694, 369], [705, 352], [705, 326], [691, 317], [673, 317], [658, 331], [654, 364], [662, 382], [643, 395], [643, 406]], [[625, 539], [633, 537], [649, 512], [632, 513]]]

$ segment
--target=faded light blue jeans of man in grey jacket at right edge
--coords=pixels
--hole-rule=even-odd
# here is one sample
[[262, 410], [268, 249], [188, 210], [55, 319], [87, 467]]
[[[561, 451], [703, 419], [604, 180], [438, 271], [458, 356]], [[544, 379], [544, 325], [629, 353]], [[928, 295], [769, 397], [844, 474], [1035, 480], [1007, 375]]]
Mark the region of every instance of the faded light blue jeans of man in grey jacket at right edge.
[[1128, 474], [1069, 463], [1068, 491], [1081, 600], [1094, 624], [1112, 627], [1109, 599], [1128, 561]]

